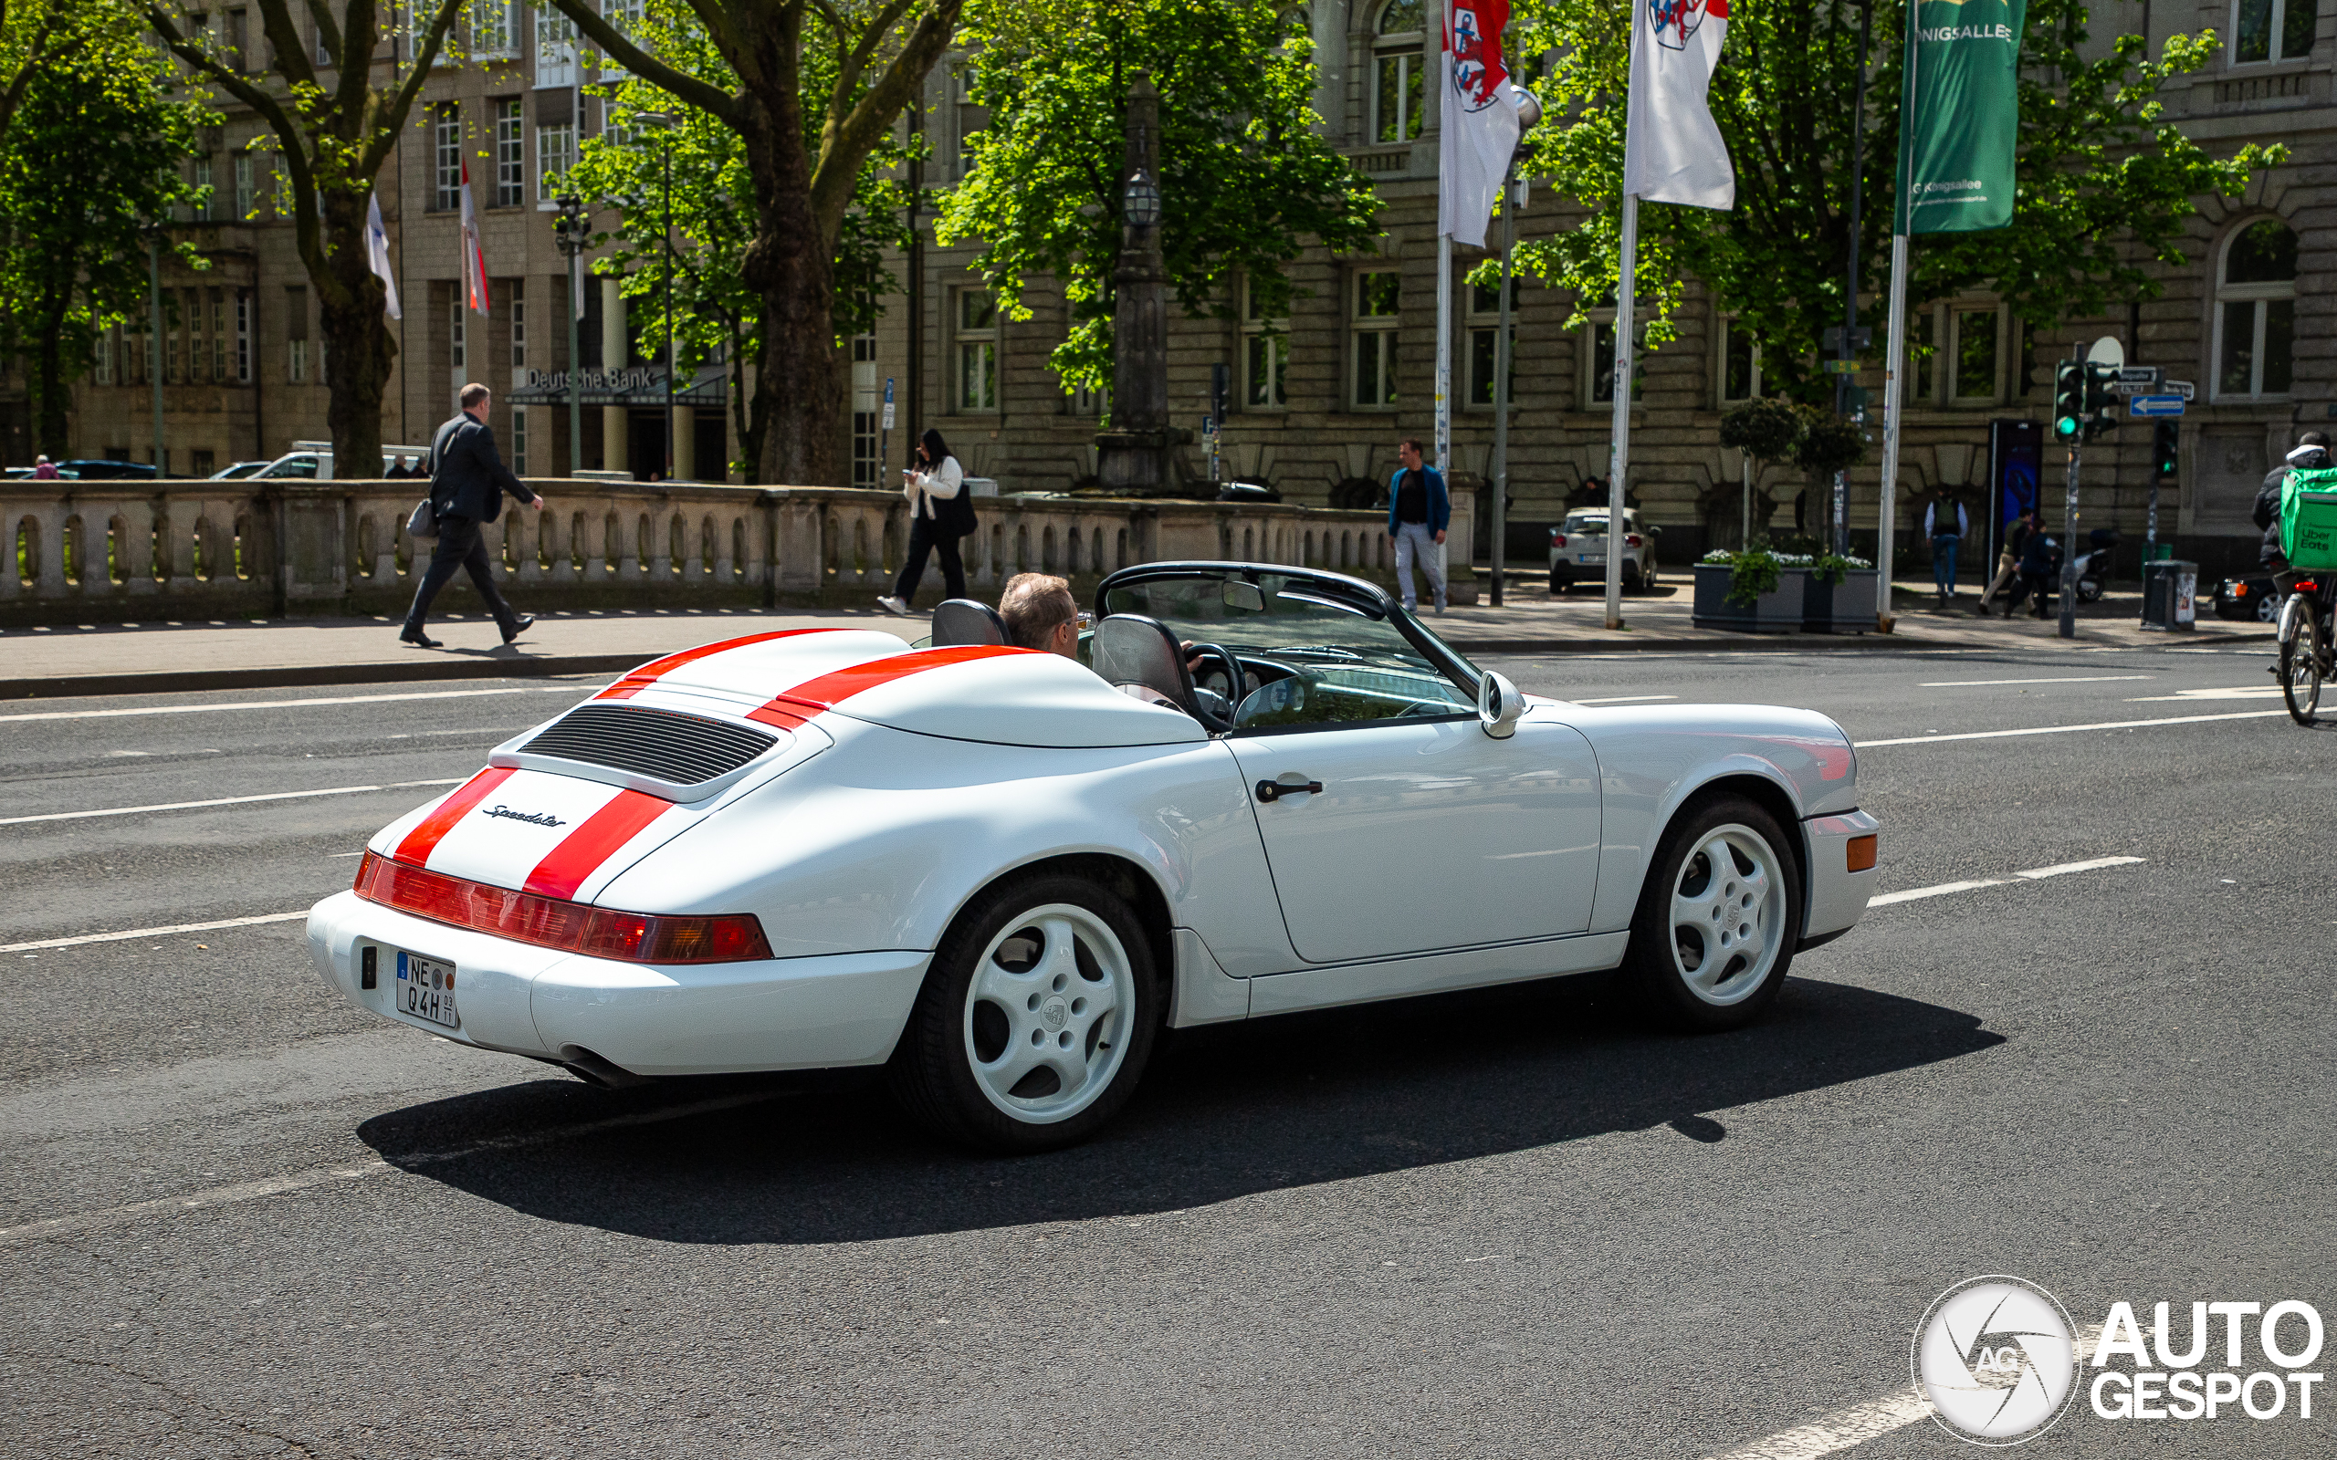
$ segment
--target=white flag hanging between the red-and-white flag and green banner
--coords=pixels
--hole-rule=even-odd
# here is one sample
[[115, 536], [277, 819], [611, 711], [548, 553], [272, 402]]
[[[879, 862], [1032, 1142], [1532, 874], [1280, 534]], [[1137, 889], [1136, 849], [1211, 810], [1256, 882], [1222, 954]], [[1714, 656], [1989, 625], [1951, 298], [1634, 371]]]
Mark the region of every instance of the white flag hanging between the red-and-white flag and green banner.
[[1638, 0], [1622, 189], [1648, 203], [1734, 208], [1736, 168], [1704, 100], [1729, 0]]

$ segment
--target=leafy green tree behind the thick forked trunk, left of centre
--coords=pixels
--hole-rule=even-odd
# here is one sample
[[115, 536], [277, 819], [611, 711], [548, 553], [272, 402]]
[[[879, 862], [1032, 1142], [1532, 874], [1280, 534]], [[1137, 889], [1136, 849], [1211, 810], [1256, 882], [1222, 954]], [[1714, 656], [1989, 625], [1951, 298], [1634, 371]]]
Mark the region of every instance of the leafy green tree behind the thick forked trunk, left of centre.
[[[692, 75], [722, 77], [736, 86], [727, 63], [689, 12], [650, 7], [636, 37], [659, 58]], [[811, 63], [832, 61], [816, 51]], [[832, 75], [825, 77], [830, 84]], [[771, 402], [748, 390], [743, 362], [762, 357], [764, 297], [746, 283], [746, 259], [755, 243], [755, 180], [746, 142], [720, 119], [654, 82], [631, 79], [615, 93], [615, 131], [584, 142], [566, 187], [584, 199], [612, 206], [619, 224], [594, 243], [615, 241], [598, 269], [624, 278], [626, 299], [650, 308], [631, 311], [640, 353], [666, 353], [664, 292], [673, 280], [675, 355], [687, 383], [713, 357], [734, 362], [729, 374], [731, 427], [738, 432], [741, 460], [734, 470], [748, 481], [762, 479], [764, 439], [771, 427]], [[640, 112], [664, 112], [673, 126], [643, 128]], [[809, 117], [809, 114], [806, 114]], [[806, 138], [816, 147], [818, 138]], [[666, 154], [671, 147], [673, 238], [666, 238]], [[888, 175], [911, 157], [890, 133], [860, 168], [853, 206], [837, 229], [834, 332], [860, 334], [876, 320], [876, 299], [890, 292], [893, 276], [883, 266], [883, 248], [907, 248], [909, 187]]]

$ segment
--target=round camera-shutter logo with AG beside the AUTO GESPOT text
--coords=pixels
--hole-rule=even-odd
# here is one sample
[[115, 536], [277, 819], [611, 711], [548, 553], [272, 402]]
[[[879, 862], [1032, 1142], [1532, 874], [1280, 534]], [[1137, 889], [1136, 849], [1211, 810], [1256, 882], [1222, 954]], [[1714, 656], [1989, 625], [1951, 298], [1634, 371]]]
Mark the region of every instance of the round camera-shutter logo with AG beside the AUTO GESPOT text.
[[1940, 1427], [1982, 1446], [2045, 1434], [2078, 1397], [2075, 1327], [2022, 1278], [1965, 1278], [1933, 1299], [1912, 1367]]

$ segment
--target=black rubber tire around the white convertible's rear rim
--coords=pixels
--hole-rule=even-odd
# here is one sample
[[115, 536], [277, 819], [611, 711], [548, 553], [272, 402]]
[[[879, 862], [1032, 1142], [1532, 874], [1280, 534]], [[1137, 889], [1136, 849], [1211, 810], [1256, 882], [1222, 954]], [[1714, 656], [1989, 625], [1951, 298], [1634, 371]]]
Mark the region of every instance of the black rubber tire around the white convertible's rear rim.
[[[1047, 934], [1035, 927], [1045, 909], [1082, 909], [1089, 916], [1082, 920], [1087, 927], [1070, 930], [1073, 946], [1061, 953], [1075, 967], [1066, 965], [1052, 979], [1052, 990], [1042, 986], [1045, 979], [1033, 983], [1028, 1018], [1024, 1011], [1010, 1016], [1003, 1002], [977, 1000], [975, 979], [991, 972], [986, 962], [993, 951], [1003, 955], [996, 965], [1003, 976], [1045, 974], [1052, 948]], [[1066, 923], [1063, 913], [1049, 916], [1059, 925]], [[1014, 962], [1024, 958], [1028, 939], [1012, 934], [1033, 932], [1040, 946], [1028, 951], [1028, 967], [1017, 969]], [[1103, 932], [1110, 939], [1103, 939]], [[1117, 948], [1108, 944], [1117, 944]], [[1117, 986], [1122, 965], [1126, 972], [1124, 990]], [[1096, 972], [1098, 979], [1089, 981], [1089, 972]], [[1112, 1009], [1084, 1028], [1075, 1026], [1070, 1014], [1082, 990], [1098, 1000], [1101, 990], [1115, 993]], [[1052, 997], [1054, 993], [1066, 997]], [[975, 897], [942, 937], [886, 1075], [902, 1110], [946, 1140], [1000, 1154], [1049, 1152], [1087, 1140], [1129, 1103], [1136, 1082], [1143, 1079], [1145, 1063], [1152, 1058], [1164, 1007], [1152, 939], [1145, 937], [1143, 923], [1117, 892], [1066, 874], [1017, 876]], [[1021, 1018], [1031, 1028], [1024, 1030], [1012, 1018]], [[1098, 1072], [1094, 1091], [1080, 1086], [1068, 1093], [1068, 1100], [1082, 1100], [1068, 1114], [1047, 1114], [1045, 1110], [1049, 1098], [1066, 1096], [1061, 1072], [1054, 1065], [1031, 1068], [1024, 1082], [1045, 1072], [1054, 1077], [1056, 1089], [1026, 1091], [1024, 1084], [1017, 1084], [993, 1098], [991, 1086], [977, 1072], [977, 1061], [984, 1058], [979, 1051], [996, 1044], [1000, 1054], [986, 1058], [1005, 1063], [1005, 1054], [1019, 1054], [1024, 1033], [1033, 1035], [1033, 1042], [1049, 1056], [1056, 1051], [1047, 1040], [1063, 1040], [1063, 1049], [1075, 1049], [1080, 1044], [1073, 1040], [1082, 1040], [1084, 1068], [1098, 1063], [1098, 1049], [1117, 1049], [1117, 1061]], [[1031, 1110], [1007, 1110], [1007, 1105], [1024, 1107], [1026, 1103]]]

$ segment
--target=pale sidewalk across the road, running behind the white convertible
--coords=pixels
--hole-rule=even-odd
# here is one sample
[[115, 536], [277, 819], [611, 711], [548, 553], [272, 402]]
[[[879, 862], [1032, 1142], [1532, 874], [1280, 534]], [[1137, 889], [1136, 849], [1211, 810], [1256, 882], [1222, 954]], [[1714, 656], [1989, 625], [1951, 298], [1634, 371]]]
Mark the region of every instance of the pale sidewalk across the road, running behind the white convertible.
[[[1606, 628], [1599, 593], [1552, 598], [1535, 575], [1510, 577], [1503, 607], [1456, 607], [1430, 619], [1454, 647], [1477, 654], [1601, 652], [1856, 652], [1856, 649], [2127, 649], [2173, 645], [2269, 642], [2262, 624], [2201, 619], [2194, 633], [2145, 633], [2136, 593], [2110, 593], [2061, 640], [2054, 621], [1982, 619], [1972, 596], [1956, 610], [1930, 607], [1930, 593], [1900, 593], [1893, 633], [1725, 633], [1690, 624], [1690, 591], [1666, 584], [1624, 598], [1622, 631]], [[717, 612], [643, 610], [542, 614], [516, 645], [502, 645], [484, 614], [432, 619], [442, 649], [397, 642], [393, 619], [264, 619], [210, 624], [7, 628], [0, 631], [0, 698], [65, 694], [159, 694], [203, 689], [278, 689], [301, 684], [374, 684], [397, 680], [486, 680], [521, 675], [617, 675], [636, 663], [720, 638], [774, 628], [876, 628], [904, 640], [925, 635], [925, 617], [867, 612]]]

